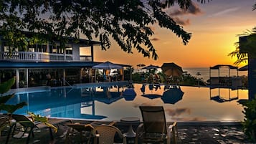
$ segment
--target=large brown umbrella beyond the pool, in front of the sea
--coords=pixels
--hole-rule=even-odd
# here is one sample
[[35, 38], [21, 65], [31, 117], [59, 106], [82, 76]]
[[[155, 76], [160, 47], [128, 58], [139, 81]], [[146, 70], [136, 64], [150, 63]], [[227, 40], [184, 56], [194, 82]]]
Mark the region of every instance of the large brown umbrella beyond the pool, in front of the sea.
[[161, 66], [161, 69], [163, 70], [163, 73], [170, 77], [170, 76], [181, 76], [183, 73], [183, 70], [179, 65], [174, 64], [174, 62], [171, 63], [163, 63]]

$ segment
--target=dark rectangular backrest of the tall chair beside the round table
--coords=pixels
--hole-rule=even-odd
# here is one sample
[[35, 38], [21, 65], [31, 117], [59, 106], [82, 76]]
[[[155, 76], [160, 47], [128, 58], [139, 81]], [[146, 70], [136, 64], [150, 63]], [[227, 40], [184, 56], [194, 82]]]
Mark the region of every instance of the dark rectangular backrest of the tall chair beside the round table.
[[140, 106], [144, 132], [166, 134], [166, 117], [162, 106]]

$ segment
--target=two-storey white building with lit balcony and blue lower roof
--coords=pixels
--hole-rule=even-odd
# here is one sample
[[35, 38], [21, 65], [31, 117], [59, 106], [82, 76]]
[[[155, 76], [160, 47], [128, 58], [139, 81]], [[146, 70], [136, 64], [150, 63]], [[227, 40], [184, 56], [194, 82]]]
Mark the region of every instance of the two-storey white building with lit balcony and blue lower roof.
[[[24, 32], [29, 39], [32, 33]], [[60, 86], [95, 82], [95, 46], [100, 42], [66, 38], [65, 47], [57, 39], [27, 46], [27, 50], [9, 47], [0, 36], [0, 82], [16, 76], [16, 88]], [[83, 52], [83, 54], [81, 54]], [[124, 67], [127, 67], [124, 66]]]

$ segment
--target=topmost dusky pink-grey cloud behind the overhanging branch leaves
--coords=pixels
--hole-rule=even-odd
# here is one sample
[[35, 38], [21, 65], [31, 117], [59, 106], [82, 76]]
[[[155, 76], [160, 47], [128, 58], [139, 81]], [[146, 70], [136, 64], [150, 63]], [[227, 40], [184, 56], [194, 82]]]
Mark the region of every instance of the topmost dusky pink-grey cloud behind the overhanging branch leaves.
[[181, 15], [185, 15], [185, 14], [199, 15], [199, 14], [203, 14], [203, 12], [197, 4], [192, 2], [191, 5], [189, 6], [189, 9], [187, 9], [187, 10], [175, 9], [174, 11], [169, 11], [168, 14], [170, 16], [181, 16]]

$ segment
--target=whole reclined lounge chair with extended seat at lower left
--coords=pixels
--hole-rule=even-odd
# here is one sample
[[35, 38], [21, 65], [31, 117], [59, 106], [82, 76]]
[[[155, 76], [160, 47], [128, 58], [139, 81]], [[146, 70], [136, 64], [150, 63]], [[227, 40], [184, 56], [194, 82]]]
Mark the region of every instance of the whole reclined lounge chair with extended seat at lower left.
[[[52, 128], [45, 125], [44, 123], [39, 123], [39, 122], [33, 122], [32, 120], [29, 119], [29, 117], [25, 115], [11, 115], [11, 118], [16, 121], [16, 123], [13, 123], [10, 127], [10, 132], [12, 132], [12, 136], [14, 136], [14, 133], [16, 131], [19, 131], [17, 135], [15, 135], [15, 138], [23, 138], [27, 137], [27, 144], [29, 143], [29, 139], [32, 135], [34, 138], [34, 129], [42, 129], [42, 128], [49, 128], [49, 135], [51, 140], [53, 140], [53, 134], [52, 134]], [[61, 119], [56, 119], [56, 118], [48, 118], [48, 123], [52, 125], [57, 125], [60, 123], [65, 123], [70, 120], [61, 120]], [[19, 127], [19, 125], [22, 126], [22, 128]], [[28, 135], [27, 135], [28, 133]], [[7, 135], [7, 140], [6, 143], [8, 143], [10, 133]]]

